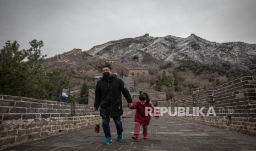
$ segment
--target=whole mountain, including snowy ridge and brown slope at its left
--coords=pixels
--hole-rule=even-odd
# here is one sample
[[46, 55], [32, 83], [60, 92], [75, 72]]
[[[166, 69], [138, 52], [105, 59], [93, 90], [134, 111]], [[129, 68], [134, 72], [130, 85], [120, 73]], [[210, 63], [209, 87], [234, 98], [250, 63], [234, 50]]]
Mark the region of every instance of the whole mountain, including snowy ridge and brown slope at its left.
[[[215, 65], [228, 62], [233, 67], [256, 69], [256, 44], [243, 42], [216, 43], [191, 34], [186, 38], [165, 36], [152, 37], [149, 34], [135, 38], [113, 40], [96, 45], [90, 50], [73, 49], [46, 59], [43, 63], [49, 70], [62, 69], [70, 78], [73, 90], [80, 89], [83, 79], [101, 75], [101, 66], [106, 59], [119, 59], [116, 68], [128, 66], [178, 67], [181, 60], [194, 60]], [[116, 71], [118, 71], [116, 69]], [[158, 73], [159, 70], [155, 71]], [[119, 73], [121, 74], [121, 73]], [[90, 84], [89, 84], [90, 85]], [[92, 84], [93, 85], [93, 84]]]

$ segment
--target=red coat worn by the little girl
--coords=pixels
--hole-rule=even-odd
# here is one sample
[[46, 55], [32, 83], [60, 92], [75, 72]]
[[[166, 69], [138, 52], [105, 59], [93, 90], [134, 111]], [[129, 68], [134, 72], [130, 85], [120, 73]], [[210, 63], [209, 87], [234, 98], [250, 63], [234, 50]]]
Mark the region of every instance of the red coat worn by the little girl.
[[[136, 109], [134, 121], [140, 123], [141, 125], [149, 125], [150, 114], [148, 116], [145, 115], [145, 108], [151, 107], [154, 112], [154, 107], [152, 107], [151, 103], [148, 104], [140, 104], [140, 101], [135, 102], [130, 109]], [[158, 116], [156, 116], [158, 117]]]

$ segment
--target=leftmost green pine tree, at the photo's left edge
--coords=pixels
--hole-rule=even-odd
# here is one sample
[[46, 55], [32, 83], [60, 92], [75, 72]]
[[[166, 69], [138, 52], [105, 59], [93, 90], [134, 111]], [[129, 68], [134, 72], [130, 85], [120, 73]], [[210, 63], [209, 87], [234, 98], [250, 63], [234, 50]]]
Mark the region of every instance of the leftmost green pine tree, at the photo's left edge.
[[8, 40], [0, 50], [0, 94], [24, 95], [26, 81], [26, 67], [23, 60], [26, 58], [25, 50], [15, 40]]

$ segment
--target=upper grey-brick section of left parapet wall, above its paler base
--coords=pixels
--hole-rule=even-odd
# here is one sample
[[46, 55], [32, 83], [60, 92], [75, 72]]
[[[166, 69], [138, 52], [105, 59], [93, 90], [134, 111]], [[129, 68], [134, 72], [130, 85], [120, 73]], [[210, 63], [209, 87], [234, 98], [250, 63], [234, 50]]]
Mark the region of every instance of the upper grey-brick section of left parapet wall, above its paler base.
[[[93, 107], [75, 104], [75, 115], [92, 115]], [[0, 95], [2, 120], [71, 117], [71, 103]], [[1, 120], [0, 119], [0, 120]]]

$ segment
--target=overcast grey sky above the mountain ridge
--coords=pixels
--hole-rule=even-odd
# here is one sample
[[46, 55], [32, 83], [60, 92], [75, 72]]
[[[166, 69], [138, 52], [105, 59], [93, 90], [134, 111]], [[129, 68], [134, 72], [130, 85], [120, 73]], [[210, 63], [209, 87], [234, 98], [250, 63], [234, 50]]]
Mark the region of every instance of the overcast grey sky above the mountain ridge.
[[37, 39], [54, 56], [145, 33], [256, 43], [256, 1], [0, 0], [0, 48]]

